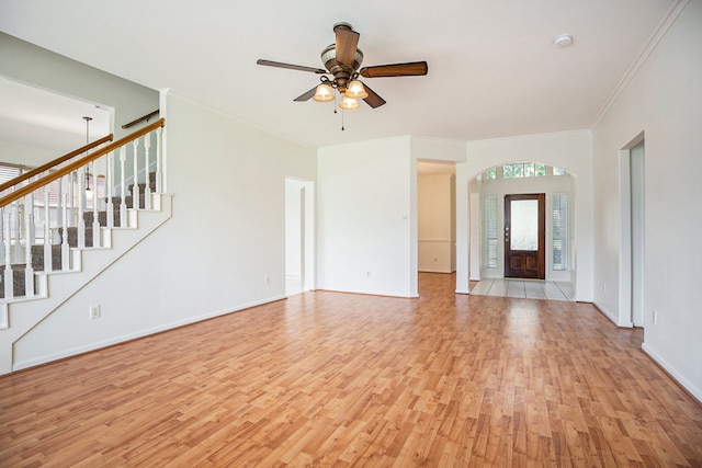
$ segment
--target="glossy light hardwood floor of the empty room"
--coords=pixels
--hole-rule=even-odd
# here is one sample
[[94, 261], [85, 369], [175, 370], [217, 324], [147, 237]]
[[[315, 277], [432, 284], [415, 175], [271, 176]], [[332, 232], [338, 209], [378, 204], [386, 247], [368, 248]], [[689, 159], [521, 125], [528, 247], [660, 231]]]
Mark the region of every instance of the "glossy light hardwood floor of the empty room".
[[301, 294], [2, 377], [0, 466], [702, 466], [702, 407], [641, 330], [454, 282]]

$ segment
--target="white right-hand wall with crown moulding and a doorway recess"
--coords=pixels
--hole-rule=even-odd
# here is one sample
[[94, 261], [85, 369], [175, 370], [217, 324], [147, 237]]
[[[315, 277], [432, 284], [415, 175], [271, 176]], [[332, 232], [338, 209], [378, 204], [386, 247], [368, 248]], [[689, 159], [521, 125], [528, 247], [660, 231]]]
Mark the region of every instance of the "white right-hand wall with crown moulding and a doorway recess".
[[615, 322], [631, 321], [619, 309], [619, 158], [644, 132], [643, 347], [702, 400], [701, 110], [702, 2], [690, 1], [593, 130], [595, 301]]

